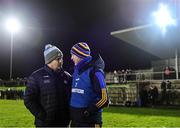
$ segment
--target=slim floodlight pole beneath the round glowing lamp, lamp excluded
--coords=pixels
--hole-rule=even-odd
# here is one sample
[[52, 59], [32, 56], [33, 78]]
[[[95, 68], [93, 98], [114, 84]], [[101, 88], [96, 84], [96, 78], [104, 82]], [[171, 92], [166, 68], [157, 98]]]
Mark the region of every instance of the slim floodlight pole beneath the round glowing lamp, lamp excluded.
[[10, 72], [9, 72], [9, 79], [12, 79], [12, 58], [13, 58], [13, 41], [14, 41], [14, 32], [11, 31], [11, 53], [10, 53]]

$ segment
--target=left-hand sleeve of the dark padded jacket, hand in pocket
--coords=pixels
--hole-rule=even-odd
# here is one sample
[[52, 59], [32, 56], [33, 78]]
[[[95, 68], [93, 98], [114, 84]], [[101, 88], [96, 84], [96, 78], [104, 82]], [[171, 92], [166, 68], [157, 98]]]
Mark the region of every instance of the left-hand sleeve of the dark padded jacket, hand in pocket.
[[30, 76], [27, 81], [24, 94], [24, 104], [36, 118], [41, 120], [45, 118], [45, 111], [39, 103], [38, 84], [33, 76]]

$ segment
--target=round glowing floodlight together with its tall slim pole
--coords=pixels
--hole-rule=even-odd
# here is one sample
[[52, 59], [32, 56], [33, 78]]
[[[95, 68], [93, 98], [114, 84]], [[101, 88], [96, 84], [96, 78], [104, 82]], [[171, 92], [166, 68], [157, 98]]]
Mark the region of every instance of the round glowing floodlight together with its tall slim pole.
[[20, 29], [20, 23], [15, 18], [10, 18], [6, 22], [6, 27], [11, 33], [11, 53], [10, 53], [10, 72], [9, 72], [9, 78], [12, 79], [12, 58], [13, 58], [13, 42], [14, 42], [14, 33], [18, 32]]

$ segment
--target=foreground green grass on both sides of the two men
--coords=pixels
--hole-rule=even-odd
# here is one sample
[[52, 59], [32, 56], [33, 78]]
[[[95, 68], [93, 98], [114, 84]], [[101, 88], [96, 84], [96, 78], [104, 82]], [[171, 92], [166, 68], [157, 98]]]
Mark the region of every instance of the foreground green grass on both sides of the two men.
[[[0, 100], [0, 127], [33, 127], [33, 116], [21, 100]], [[104, 127], [180, 127], [180, 110], [109, 107]]]

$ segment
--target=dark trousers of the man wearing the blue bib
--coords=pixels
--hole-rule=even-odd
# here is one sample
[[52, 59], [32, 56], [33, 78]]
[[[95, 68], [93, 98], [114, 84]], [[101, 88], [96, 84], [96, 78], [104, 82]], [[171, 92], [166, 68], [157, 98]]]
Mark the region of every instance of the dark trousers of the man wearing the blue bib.
[[70, 109], [71, 127], [101, 127], [102, 112], [95, 112], [89, 116], [84, 115], [86, 108]]

